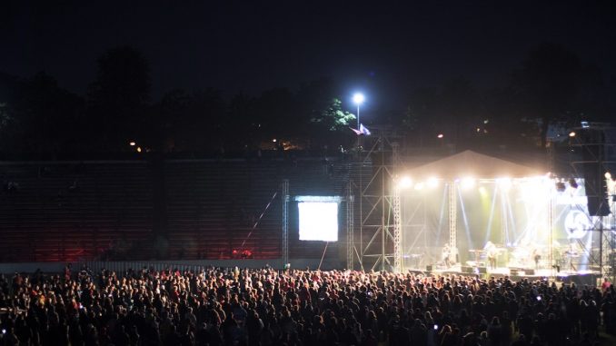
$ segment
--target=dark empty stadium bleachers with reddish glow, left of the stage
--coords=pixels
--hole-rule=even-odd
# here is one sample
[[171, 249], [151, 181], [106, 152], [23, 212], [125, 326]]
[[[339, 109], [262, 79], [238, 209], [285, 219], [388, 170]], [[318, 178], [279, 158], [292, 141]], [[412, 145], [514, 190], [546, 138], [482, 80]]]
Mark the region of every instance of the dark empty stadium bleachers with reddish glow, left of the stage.
[[[3, 162], [2, 262], [230, 259], [248, 250], [279, 258], [283, 179], [292, 195], [343, 195], [350, 163], [303, 160], [167, 160], [162, 197], [148, 161]], [[6, 186], [5, 186], [6, 187]], [[154, 198], [164, 226], [154, 230]], [[159, 204], [160, 205], [160, 204]], [[269, 205], [269, 206], [268, 206]], [[263, 217], [260, 217], [263, 213]], [[249, 236], [250, 235], [250, 236]], [[320, 256], [295, 235], [293, 256]]]

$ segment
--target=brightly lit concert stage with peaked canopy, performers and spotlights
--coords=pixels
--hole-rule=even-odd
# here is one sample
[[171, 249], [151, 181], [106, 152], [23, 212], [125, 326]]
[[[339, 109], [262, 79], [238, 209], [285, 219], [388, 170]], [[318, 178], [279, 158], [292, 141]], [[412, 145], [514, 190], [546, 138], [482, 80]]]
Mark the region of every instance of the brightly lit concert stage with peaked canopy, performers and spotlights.
[[590, 213], [582, 178], [472, 152], [405, 174], [402, 268], [529, 278], [611, 276], [616, 268], [613, 215]]

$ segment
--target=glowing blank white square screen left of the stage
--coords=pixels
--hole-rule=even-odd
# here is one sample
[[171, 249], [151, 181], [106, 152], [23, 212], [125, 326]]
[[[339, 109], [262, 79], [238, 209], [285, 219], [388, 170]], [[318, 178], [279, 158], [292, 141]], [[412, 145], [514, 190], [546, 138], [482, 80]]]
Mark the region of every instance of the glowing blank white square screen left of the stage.
[[300, 202], [300, 240], [338, 241], [338, 203]]

